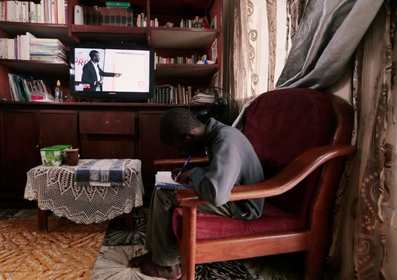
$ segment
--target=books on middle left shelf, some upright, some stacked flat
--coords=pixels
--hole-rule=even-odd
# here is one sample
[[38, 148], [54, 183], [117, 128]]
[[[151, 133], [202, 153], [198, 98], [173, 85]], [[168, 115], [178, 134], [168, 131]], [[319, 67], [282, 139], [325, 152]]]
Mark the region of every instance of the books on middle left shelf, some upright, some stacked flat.
[[29, 32], [14, 39], [0, 38], [0, 58], [67, 61], [65, 45], [58, 39], [36, 38]]

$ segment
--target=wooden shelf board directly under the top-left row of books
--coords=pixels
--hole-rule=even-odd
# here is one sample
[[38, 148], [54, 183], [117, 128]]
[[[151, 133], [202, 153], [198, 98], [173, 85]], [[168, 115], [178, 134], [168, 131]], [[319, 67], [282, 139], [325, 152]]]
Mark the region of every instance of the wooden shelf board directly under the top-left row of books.
[[67, 24], [0, 21], [0, 29], [10, 37], [24, 35], [29, 32], [37, 38], [59, 39], [66, 45], [74, 42], [67, 35]]

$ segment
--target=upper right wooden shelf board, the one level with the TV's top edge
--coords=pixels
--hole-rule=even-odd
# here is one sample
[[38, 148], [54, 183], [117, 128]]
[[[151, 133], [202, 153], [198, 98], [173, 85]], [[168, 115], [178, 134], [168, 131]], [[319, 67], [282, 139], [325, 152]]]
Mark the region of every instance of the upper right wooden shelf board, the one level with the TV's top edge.
[[205, 49], [218, 33], [210, 28], [151, 27], [150, 44], [163, 49]]

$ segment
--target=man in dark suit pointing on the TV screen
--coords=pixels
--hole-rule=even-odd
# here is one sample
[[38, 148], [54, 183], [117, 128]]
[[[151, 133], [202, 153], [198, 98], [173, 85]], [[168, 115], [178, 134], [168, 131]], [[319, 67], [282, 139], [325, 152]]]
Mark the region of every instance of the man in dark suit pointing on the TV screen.
[[102, 91], [103, 77], [120, 77], [120, 73], [104, 72], [99, 67], [99, 52], [92, 50], [89, 53], [91, 60], [83, 66], [83, 74], [81, 82], [89, 84], [89, 88], [84, 88], [84, 91]]

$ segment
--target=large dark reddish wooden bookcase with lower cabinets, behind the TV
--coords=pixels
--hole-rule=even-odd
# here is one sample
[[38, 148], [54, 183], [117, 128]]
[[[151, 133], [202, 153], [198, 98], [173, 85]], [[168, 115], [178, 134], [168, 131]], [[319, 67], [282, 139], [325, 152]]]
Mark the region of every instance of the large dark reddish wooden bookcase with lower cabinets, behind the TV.
[[[157, 86], [184, 84], [192, 86], [194, 91], [209, 86], [216, 73], [219, 76], [219, 84], [222, 84], [222, 0], [121, 1], [140, 6], [145, 12], [147, 27], [76, 25], [73, 21], [75, 5], [104, 5], [105, 0], [66, 0], [65, 24], [0, 21], [0, 37], [14, 38], [16, 35], [29, 32], [37, 38], [59, 39], [66, 47], [73, 42], [135, 41], [153, 46], [158, 56], [189, 58], [192, 55], [197, 57], [206, 55], [208, 60], [212, 60], [211, 45], [217, 39], [215, 64], [157, 64], [155, 84]], [[35, 1], [38, 2], [40, 1]], [[205, 11], [210, 15], [209, 23], [216, 22], [215, 28], [179, 27], [182, 19], [202, 17]], [[174, 26], [150, 26], [150, 20], [155, 18], [159, 25], [172, 22]], [[64, 95], [68, 94], [69, 66], [66, 62], [0, 59], [0, 82], [6, 85], [0, 91], [0, 98], [11, 98], [8, 73], [32, 75], [35, 79], [43, 79], [51, 86], [55, 86], [56, 81], [60, 79]], [[200, 109], [199, 106], [189, 104], [166, 103], [0, 101], [0, 207], [34, 207], [34, 203], [23, 200], [26, 178], [22, 175], [30, 168], [41, 164], [40, 148], [65, 142], [79, 146], [82, 158], [84, 154], [97, 158], [105, 155], [107, 158], [112, 158], [117, 154], [120, 158], [140, 159], [145, 193], [150, 198], [154, 183], [153, 174], [155, 174], [153, 160], [180, 155], [163, 145], [158, 135], [162, 114], [174, 107], [189, 108], [193, 111]], [[90, 122], [98, 129], [95, 134], [82, 134], [79, 131], [80, 115], [87, 115], [87, 112], [90, 112], [88, 115], [93, 116]], [[112, 120], [119, 120], [123, 115], [120, 112], [133, 112], [132, 134], [119, 134], [116, 128], [112, 130], [106, 124], [97, 124], [94, 117], [98, 114], [106, 114]], [[90, 150], [83, 150], [82, 143]], [[101, 149], [95, 150], [94, 147], [98, 145]]]

